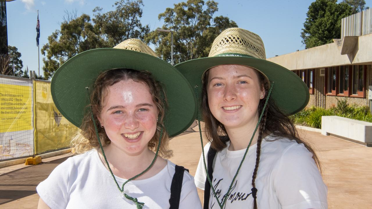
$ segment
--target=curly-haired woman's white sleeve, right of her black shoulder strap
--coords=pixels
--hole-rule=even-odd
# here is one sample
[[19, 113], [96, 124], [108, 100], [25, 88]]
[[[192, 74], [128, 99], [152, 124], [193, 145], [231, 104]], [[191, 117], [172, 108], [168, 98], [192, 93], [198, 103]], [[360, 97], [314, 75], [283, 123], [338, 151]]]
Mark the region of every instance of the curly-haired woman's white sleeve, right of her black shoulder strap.
[[198, 191], [196, 190], [193, 177], [189, 172], [183, 174], [183, 184], [180, 197], [180, 209], [202, 209]]

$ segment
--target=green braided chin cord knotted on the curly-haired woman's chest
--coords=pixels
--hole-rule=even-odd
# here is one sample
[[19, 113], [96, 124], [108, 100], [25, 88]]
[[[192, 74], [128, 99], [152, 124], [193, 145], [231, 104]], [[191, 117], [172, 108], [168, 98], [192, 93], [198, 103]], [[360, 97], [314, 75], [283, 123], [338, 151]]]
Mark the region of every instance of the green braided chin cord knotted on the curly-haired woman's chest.
[[[86, 87], [86, 90], [87, 90], [87, 93], [88, 93], [88, 102], [90, 104], [89, 87]], [[133, 179], [136, 179], [138, 176], [141, 176], [142, 174], [144, 174], [146, 171], [148, 171], [153, 166], [153, 164], [154, 164], [154, 162], [155, 162], [155, 160], [156, 160], [156, 158], [158, 156], [159, 149], [160, 149], [161, 136], [163, 136], [163, 128], [161, 128], [161, 130], [160, 130], [160, 137], [159, 137], [158, 147], [156, 149], [155, 157], [154, 157], [153, 161], [151, 162], [151, 164], [144, 171], [142, 171], [140, 174], [132, 177], [131, 179], [126, 180], [125, 183], [120, 188], [120, 186], [118, 184], [118, 181], [116, 181], [116, 178], [115, 178], [115, 176], [114, 176], [114, 174], [113, 174], [113, 172], [112, 172], [112, 170], [110, 168], [109, 162], [107, 161], [105, 152], [103, 151], [103, 146], [102, 146], [102, 143], [101, 143], [101, 139], [100, 139], [100, 137], [98, 135], [98, 129], [97, 129], [97, 125], [96, 125], [96, 120], [94, 120], [93, 111], [92, 111], [92, 108], [90, 106], [89, 106], [89, 110], [90, 110], [90, 115], [92, 116], [92, 120], [93, 120], [93, 124], [94, 124], [94, 129], [96, 130], [96, 136], [97, 136], [97, 139], [98, 139], [99, 147], [101, 148], [101, 151], [102, 151], [103, 158], [105, 159], [106, 165], [109, 168], [109, 171], [110, 171], [111, 176], [113, 177], [113, 179], [114, 179], [114, 181], [116, 183], [116, 186], [118, 187], [118, 189], [120, 190], [120, 192], [123, 192], [124, 191], [124, 185], [126, 183], [128, 183], [129, 181], [131, 181]], [[131, 196], [129, 196], [126, 193], [124, 193], [124, 196], [126, 197], [126, 199], [132, 200], [136, 204], [137, 209], [142, 209], [142, 207], [145, 205], [145, 203], [138, 202], [137, 198], [131, 197]]]

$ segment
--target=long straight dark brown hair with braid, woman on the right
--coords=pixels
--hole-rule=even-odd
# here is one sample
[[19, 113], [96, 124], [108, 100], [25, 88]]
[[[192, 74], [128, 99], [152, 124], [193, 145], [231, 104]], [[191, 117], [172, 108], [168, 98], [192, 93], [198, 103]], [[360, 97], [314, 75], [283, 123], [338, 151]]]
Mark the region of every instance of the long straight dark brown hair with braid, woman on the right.
[[[257, 73], [257, 77], [259, 79], [259, 84], [265, 90], [264, 99], [261, 99], [258, 105], [259, 114], [262, 112], [264, 103], [269, 92], [270, 83], [266, 79], [266, 77], [260, 73], [258, 70], [255, 70]], [[208, 94], [207, 94], [207, 86], [208, 86], [208, 75], [209, 70], [205, 72], [203, 77], [203, 88], [202, 88], [202, 115], [205, 124], [205, 134], [209, 142], [211, 142], [211, 147], [217, 151], [221, 151], [222, 149], [227, 147], [227, 142], [230, 140], [225, 126], [219, 122], [211, 113], [208, 105]], [[257, 209], [257, 202], [256, 202], [256, 176], [257, 170], [260, 163], [260, 154], [261, 154], [261, 143], [262, 139], [265, 136], [273, 136], [272, 141], [275, 141], [279, 138], [288, 138], [289, 140], [295, 141], [298, 144], [304, 144], [304, 146], [312, 153], [312, 158], [314, 159], [315, 163], [317, 164], [320, 172], [321, 172], [321, 165], [320, 161], [315, 154], [315, 151], [311, 148], [311, 146], [305, 142], [303, 139], [300, 138], [297, 129], [293, 122], [284, 115], [279, 108], [275, 105], [275, 101], [269, 98], [269, 101], [266, 105], [264, 115], [261, 119], [260, 126], [259, 126], [259, 135], [257, 139], [257, 150], [256, 150], [256, 165], [254, 167], [253, 176], [252, 176], [252, 196], [253, 196], [253, 208]], [[225, 136], [225, 137], [221, 137]], [[254, 191], [255, 190], [255, 191]]]

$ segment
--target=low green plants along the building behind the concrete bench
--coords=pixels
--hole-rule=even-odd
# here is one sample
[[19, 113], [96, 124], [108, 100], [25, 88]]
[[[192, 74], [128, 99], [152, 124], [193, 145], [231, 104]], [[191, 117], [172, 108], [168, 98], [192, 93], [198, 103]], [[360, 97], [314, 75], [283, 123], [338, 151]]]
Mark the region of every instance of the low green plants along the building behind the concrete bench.
[[321, 107], [311, 107], [304, 109], [289, 118], [296, 125], [310, 126], [313, 128], [321, 128], [321, 116], [340, 116], [355, 120], [372, 122], [372, 114], [368, 106], [356, 106], [347, 104], [347, 98], [337, 99], [337, 106], [324, 109]]

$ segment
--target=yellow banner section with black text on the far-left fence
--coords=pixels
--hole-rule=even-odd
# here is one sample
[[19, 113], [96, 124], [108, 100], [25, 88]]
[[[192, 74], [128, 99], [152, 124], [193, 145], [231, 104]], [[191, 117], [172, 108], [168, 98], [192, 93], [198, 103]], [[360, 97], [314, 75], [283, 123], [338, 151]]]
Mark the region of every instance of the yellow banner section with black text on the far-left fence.
[[32, 87], [0, 83], [0, 133], [32, 129]]

